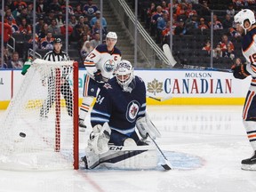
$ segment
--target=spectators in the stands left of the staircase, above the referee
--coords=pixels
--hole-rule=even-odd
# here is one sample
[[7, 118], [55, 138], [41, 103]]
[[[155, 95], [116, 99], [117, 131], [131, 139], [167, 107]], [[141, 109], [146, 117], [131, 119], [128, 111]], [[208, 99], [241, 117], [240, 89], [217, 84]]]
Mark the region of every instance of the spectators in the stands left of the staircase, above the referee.
[[[66, 28], [68, 47], [76, 49], [80, 59], [84, 60], [100, 44], [100, 25], [104, 39], [108, 33], [107, 21], [102, 17], [100, 22], [100, 10], [92, 0], [70, 1], [68, 24], [65, 0], [36, 0], [36, 38], [33, 38], [33, 1], [5, 0], [4, 64], [0, 68], [22, 68], [28, 49], [33, 49], [34, 42], [36, 52], [52, 50], [53, 41], [57, 37], [61, 37], [65, 44]], [[16, 44], [16, 50], [11, 50], [7, 44]], [[5, 54], [8, 56], [5, 57]]]

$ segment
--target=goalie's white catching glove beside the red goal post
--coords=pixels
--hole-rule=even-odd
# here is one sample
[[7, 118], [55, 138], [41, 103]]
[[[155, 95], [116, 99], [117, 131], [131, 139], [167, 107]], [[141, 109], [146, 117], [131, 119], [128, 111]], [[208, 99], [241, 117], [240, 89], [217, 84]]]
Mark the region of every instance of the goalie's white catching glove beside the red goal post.
[[110, 139], [110, 128], [108, 123], [97, 124], [92, 128], [88, 147], [94, 150], [95, 154], [103, 154], [108, 152], [108, 141]]

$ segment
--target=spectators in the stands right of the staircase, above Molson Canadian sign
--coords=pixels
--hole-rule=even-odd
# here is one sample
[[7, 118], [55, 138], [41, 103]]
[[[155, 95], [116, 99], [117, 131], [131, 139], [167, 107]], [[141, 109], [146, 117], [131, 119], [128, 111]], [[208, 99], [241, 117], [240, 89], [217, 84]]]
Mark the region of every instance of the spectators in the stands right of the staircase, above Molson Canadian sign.
[[[174, 52], [174, 56], [176, 55], [175, 52], [177, 53], [178, 60], [180, 56], [181, 62], [185, 61], [182, 60], [184, 55], [180, 53], [186, 51], [184, 51], [186, 49], [186, 41], [191, 39], [191, 36], [194, 36], [194, 41], [189, 43], [199, 44], [199, 47], [196, 47], [199, 53], [196, 53], [196, 49], [192, 50], [191, 48], [193, 47], [191, 45], [187, 47], [191, 49], [191, 52], [195, 52], [192, 56], [196, 57], [199, 54], [200, 56], [208, 55], [210, 57], [210, 28], [212, 26], [214, 38], [212, 49], [213, 59], [217, 62], [222, 58], [228, 59], [226, 60], [228, 62], [228, 66], [226, 67], [229, 68], [232, 63], [236, 62], [237, 57], [243, 58], [240, 46], [235, 45], [236, 43], [240, 44], [241, 35], [236, 31], [236, 26], [233, 24], [234, 15], [242, 8], [255, 8], [256, 1], [173, 0], [172, 4], [170, 4], [168, 0], [151, 0], [148, 4], [145, 1], [140, 1], [140, 5], [146, 5], [147, 7], [140, 12], [140, 18], [145, 22], [148, 33], [156, 39], [156, 44], [160, 46], [162, 44], [169, 44], [170, 34], [172, 34], [174, 40], [172, 43], [172, 52]], [[171, 7], [172, 23], [170, 21]], [[211, 12], [213, 12], [213, 22], [211, 22]], [[175, 42], [176, 39], [180, 38], [183, 41]], [[203, 52], [203, 54], [200, 54], [200, 52]], [[188, 52], [188, 54], [191, 56], [191, 53]], [[188, 57], [188, 55], [185, 56]], [[206, 60], [206, 62], [209, 65], [209, 60]], [[193, 64], [195, 65], [195, 63]]]

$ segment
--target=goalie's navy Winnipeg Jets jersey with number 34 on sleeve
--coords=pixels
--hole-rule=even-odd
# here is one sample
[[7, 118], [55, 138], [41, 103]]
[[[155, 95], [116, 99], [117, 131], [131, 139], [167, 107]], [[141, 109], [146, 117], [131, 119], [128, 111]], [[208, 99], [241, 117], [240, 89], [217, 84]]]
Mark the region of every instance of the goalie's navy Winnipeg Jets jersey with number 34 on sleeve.
[[124, 92], [116, 78], [103, 85], [92, 108], [92, 127], [108, 122], [111, 130], [131, 136], [136, 120], [145, 116], [146, 111], [145, 84], [138, 76], [134, 80], [136, 86], [132, 92]]

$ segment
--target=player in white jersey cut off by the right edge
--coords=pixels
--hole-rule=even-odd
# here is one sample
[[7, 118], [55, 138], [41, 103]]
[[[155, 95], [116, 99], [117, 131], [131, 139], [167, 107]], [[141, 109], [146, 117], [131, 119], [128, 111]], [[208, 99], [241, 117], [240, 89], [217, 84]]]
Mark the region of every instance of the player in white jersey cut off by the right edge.
[[242, 160], [242, 169], [256, 170], [256, 23], [254, 12], [244, 9], [235, 15], [236, 30], [243, 35], [242, 52], [247, 64], [233, 68], [238, 79], [252, 76], [252, 83], [244, 103], [243, 123], [252, 145], [253, 156]]

